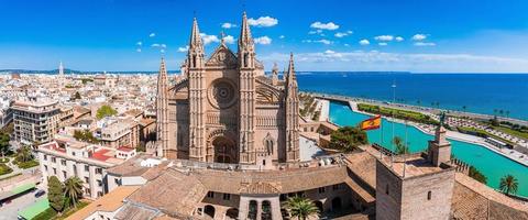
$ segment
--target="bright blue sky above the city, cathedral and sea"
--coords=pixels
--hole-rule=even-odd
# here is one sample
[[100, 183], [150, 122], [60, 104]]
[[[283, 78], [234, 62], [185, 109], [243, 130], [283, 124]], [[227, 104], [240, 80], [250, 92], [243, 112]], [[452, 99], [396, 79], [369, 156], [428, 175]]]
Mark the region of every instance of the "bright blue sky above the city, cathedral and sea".
[[194, 14], [211, 53], [243, 2], [266, 69], [528, 73], [526, 0], [0, 0], [0, 68], [178, 69]]

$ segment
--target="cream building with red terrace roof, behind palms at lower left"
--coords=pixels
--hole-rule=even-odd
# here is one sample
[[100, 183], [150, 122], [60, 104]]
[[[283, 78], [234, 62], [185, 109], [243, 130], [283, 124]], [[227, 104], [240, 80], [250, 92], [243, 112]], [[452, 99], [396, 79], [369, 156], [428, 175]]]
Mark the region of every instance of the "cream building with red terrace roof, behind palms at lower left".
[[37, 146], [44, 183], [50, 176], [61, 182], [77, 176], [82, 180], [84, 196], [96, 199], [107, 194], [107, 169], [135, 156], [129, 147], [111, 148], [57, 135], [54, 141]]

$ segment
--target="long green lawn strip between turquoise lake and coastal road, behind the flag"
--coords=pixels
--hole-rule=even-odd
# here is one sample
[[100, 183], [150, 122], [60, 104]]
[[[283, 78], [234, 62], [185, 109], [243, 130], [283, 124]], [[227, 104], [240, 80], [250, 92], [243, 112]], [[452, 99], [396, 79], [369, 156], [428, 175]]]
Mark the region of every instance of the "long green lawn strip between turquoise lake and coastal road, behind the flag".
[[360, 111], [366, 111], [370, 113], [376, 113], [376, 114], [382, 114], [386, 117], [394, 117], [397, 119], [404, 119], [404, 120], [409, 120], [409, 121], [425, 123], [425, 124], [435, 124], [435, 125], [438, 124], [438, 122], [431, 119], [429, 116], [422, 114], [416, 111], [393, 109], [393, 108], [380, 107], [380, 106], [367, 105], [367, 103], [358, 103], [358, 109]]

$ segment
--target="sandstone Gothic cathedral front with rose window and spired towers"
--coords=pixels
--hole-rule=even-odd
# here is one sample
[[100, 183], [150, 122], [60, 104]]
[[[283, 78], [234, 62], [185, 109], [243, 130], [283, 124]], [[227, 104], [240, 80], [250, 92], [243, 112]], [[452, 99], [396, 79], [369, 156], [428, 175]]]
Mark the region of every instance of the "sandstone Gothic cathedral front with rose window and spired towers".
[[206, 58], [195, 19], [182, 76], [157, 82], [157, 155], [271, 166], [299, 160], [299, 100], [294, 61], [283, 79], [264, 75], [243, 14], [238, 52], [223, 42]]

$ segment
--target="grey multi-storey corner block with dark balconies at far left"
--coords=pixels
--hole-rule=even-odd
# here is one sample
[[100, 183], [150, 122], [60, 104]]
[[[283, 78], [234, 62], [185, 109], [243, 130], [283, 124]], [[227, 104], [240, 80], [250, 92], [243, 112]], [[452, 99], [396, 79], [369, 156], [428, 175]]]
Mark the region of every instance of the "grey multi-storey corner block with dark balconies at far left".
[[59, 124], [61, 108], [57, 101], [30, 98], [11, 106], [14, 122], [14, 140], [22, 144], [52, 141]]

